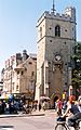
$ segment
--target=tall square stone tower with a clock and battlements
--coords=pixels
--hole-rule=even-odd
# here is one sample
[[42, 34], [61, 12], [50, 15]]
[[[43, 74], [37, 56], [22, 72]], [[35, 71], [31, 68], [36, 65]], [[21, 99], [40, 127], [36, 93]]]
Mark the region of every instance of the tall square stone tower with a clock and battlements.
[[[54, 6], [53, 6], [54, 8]], [[63, 96], [71, 79], [71, 55], [76, 43], [76, 9], [64, 14], [45, 11], [38, 20], [36, 100]]]

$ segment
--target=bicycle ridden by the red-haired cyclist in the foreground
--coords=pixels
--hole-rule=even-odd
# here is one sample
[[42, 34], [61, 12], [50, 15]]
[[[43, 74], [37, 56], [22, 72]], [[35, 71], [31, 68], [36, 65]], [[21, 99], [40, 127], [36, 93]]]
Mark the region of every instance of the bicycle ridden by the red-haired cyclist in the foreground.
[[[55, 130], [71, 130], [71, 128], [67, 125], [66, 119], [63, 119], [56, 121]], [[76, 121], [75, 130], [81, 130], [81, 119]]]

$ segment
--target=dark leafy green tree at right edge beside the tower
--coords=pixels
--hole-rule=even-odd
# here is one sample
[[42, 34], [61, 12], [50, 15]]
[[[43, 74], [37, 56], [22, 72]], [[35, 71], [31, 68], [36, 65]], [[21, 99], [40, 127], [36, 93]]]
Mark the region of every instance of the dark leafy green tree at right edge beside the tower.
[[72, 69], [71, 83], [76, 92], [76, 96], [81, 93], [81, 43], [75, 46], [75, 54], [72, 55], [75, 68]]

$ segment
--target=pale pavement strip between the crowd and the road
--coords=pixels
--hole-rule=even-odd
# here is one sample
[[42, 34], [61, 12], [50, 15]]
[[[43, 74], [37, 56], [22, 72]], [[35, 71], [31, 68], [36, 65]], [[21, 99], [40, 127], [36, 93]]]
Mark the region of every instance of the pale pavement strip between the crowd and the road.
[[54, 109], [48, 109], [48, 110], [36, 110], [32, 112], [31, 114], [23, 114], [23, 113], [18, 113], [18, 114], [2, 114], [0, 115], [0, 118], [8, 118], [8, 117], [24, 117], [24, 116], [56, 116], [56, 112]]

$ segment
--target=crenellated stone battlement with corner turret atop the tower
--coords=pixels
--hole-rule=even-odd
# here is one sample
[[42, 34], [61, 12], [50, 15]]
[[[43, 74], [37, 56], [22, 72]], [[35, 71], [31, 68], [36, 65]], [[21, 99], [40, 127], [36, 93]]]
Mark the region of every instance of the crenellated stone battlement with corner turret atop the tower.
[[56, 18], [59, 21], [69, 21], [72, 23], [76, 23], [76, 9], [70, 6], [70, 8], [66, 8], [65, 12], [63, 14], [57, 13], [57, 12], [49, 12], [45, 11], [41, 17], [38, 20], [38, 23], [40, 23], [43, 18]]

